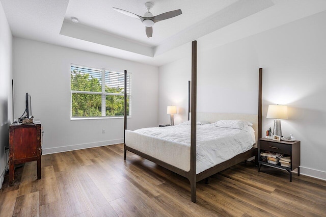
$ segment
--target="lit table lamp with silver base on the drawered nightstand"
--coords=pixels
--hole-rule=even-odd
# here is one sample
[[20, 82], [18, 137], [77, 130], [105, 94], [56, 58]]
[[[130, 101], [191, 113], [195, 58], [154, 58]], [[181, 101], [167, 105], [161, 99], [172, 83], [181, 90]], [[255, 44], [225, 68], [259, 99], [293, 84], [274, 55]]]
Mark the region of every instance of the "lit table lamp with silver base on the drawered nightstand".
[[266, 118], [275, 118], [273, 135], [282, 137], [281, 120], [287, 119], [287, 105], [268, 105]]

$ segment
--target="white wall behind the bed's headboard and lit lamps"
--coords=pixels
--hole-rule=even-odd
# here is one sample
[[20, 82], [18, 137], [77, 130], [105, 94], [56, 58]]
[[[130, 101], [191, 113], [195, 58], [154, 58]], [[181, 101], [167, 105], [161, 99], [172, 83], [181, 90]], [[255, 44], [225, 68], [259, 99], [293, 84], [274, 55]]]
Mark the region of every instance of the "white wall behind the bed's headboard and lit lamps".
[[[198, 112], [258, 114], [258, 68], [263, 68], [263, 132], [268, 104], [287, 104], [283, 135], [301, 140], [301, 173], [326, 179], [326, 12], [198, 53]], [[198, 40], [198, 47], [200, 47]], [[181, 74], [177, 74], [180, 73]], [[191, 57], [159, 68], [159, 123], [176, 104], [186, 120]], [[170, 85], [170, 86], [169, 86]], [[169, 86], [169, 88], [168, 88]]]

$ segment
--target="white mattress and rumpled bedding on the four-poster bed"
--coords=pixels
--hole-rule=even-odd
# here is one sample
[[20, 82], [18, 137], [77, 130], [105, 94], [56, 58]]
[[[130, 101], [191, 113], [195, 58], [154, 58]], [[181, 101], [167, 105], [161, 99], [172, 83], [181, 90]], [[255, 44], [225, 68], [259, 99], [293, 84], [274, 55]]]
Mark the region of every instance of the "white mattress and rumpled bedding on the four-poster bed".
[[[167, 162], [184, 171], [190, 170], [189, 125], [126, 130], [128, 147]], [[255, 144], [254, 130], [197, 125], [196, 174], [250, 150]]]

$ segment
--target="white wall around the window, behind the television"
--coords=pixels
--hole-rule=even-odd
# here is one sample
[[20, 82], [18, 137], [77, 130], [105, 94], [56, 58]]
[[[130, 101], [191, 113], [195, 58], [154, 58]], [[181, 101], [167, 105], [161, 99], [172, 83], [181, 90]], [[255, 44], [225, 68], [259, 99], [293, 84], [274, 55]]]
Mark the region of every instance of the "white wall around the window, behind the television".
[[43, 154], [123, 142], [123, 118], [70, 120], [71, 63], [131, 72], [128, 129], [157, 126], [157, 67], [21, 38], [13, 44], [15, 118], [23, 113], [25, 93], [30, 93], [32, 114], [45, 131]]

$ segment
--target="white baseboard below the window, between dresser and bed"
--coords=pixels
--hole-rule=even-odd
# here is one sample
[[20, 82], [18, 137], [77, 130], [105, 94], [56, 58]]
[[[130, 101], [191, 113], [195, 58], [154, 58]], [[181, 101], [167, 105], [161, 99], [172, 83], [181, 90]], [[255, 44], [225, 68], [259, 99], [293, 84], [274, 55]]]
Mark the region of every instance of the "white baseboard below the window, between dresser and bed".
[[61, 146], [61, 147], [55, 147], [55, 148], [42, 148], [42, 154], [54, 154], [59, 152], [65, 152], [65, 151], [73, 151], [78, 149], [85, 149], [85, 148], [93, 148], [93, 147], [99, 147], [99, 146], [105, 146], [105, 145], [115, 145], [123, 143], [123, 139], [119, 140], [108, 140], [108, 141], [101, 141], [101, 142], [95, 142], [95, 143], [84, 143], [84, 144], [77, 144], [77, 145], [69, 145], [69, 146]]

